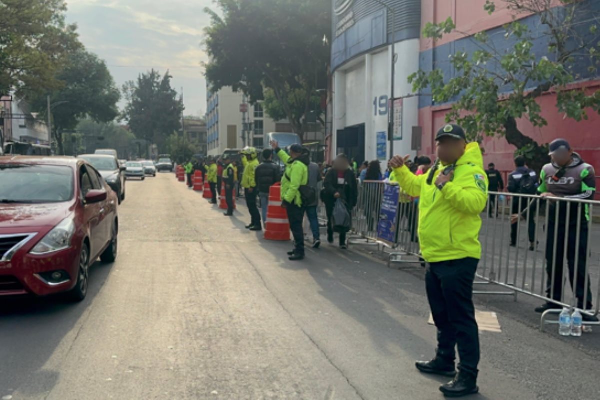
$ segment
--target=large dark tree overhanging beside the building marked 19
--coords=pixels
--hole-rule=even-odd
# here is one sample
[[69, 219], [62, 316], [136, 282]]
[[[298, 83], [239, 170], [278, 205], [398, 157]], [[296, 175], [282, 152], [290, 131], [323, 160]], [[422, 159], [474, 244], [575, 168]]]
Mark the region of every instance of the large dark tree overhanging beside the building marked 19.
[[[251, 103], [266, 100], [271, 118], [287, 118], [304, 134], [303, 118], [319, 110], [317, 89], [327, 87], [331, 2], [323, 0], [217, 0], [207, 9], [206, 79], [212, 90], [232, 86]], [[310, 29], [308, 28], [310, 27]]]

